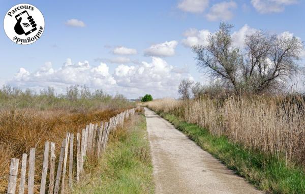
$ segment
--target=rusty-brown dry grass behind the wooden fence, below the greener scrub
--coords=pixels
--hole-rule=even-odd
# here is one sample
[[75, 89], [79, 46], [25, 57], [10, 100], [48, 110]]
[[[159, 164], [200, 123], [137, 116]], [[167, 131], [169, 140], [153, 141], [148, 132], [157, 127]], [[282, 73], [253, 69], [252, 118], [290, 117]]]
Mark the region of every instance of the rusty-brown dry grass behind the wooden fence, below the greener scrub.
[[[80, 132], [92, 122], [100, 124], [125, 110], [103, 109], [88, 113], [68, 110], [36, 111], [34, 109], [9, 109], [0, 111], [0, 193], [5, 193], [12, 157], [20, 158], [29, 148], [36, 147], [35, 190], [39, 190], [45, 141], [56, 144], [56, 156], [66, 133]], [[56, 158], [57, 160], [58, 158]], [[19, 165], [20, 168], [20, 165]], [[19, 169], [20, 172], [20, 169]], [[18, 187], [18, 182], [17, 182]], [[18, 189], [18, 188], [17, 188]]]

